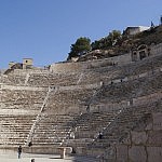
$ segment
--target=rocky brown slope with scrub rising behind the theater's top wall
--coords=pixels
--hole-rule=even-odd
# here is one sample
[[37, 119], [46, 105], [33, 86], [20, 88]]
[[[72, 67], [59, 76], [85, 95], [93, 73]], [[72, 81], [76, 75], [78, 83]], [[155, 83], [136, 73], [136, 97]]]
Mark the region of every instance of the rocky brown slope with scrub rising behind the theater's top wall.
[[[117, 55], [123, 55], [125, 53], [130, 53], [132, 50], [136, 49], [140, 44], [152, 45], [159, 44], [162, 42], [162, 26], [157, 26], [150, 28], [149, 30], [145, 30], [134, 36], [127, 36], [123, 32], [120, 39], [116, 40], [113, 45], [103, 45], [104, 48], [99, 48], [93, 50], [89, 53], [81, 55], [78, 58], [78, 62], [99, 59], [99, 58], [108, 58]], [[106, 37], [98, 40], [98, 43], [105, 42]]]

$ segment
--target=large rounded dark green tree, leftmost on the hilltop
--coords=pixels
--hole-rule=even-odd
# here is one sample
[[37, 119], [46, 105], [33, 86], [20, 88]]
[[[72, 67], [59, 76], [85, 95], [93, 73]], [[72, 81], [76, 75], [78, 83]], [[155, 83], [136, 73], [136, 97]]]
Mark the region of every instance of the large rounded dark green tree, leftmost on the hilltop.
[[70, 53], [67, 59], [80, 56], [91, 50], [91, 40], [86, 37], [80, 37], [75, 44], [70, 46]]

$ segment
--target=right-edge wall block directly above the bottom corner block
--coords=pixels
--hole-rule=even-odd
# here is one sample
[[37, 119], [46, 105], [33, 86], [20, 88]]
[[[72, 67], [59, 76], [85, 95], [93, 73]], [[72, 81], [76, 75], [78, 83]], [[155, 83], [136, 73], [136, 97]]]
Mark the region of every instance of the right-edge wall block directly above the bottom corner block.
[[148, 133], [148, 144], [152, 146], [162, 146], [162, 131], [151, 131]]

